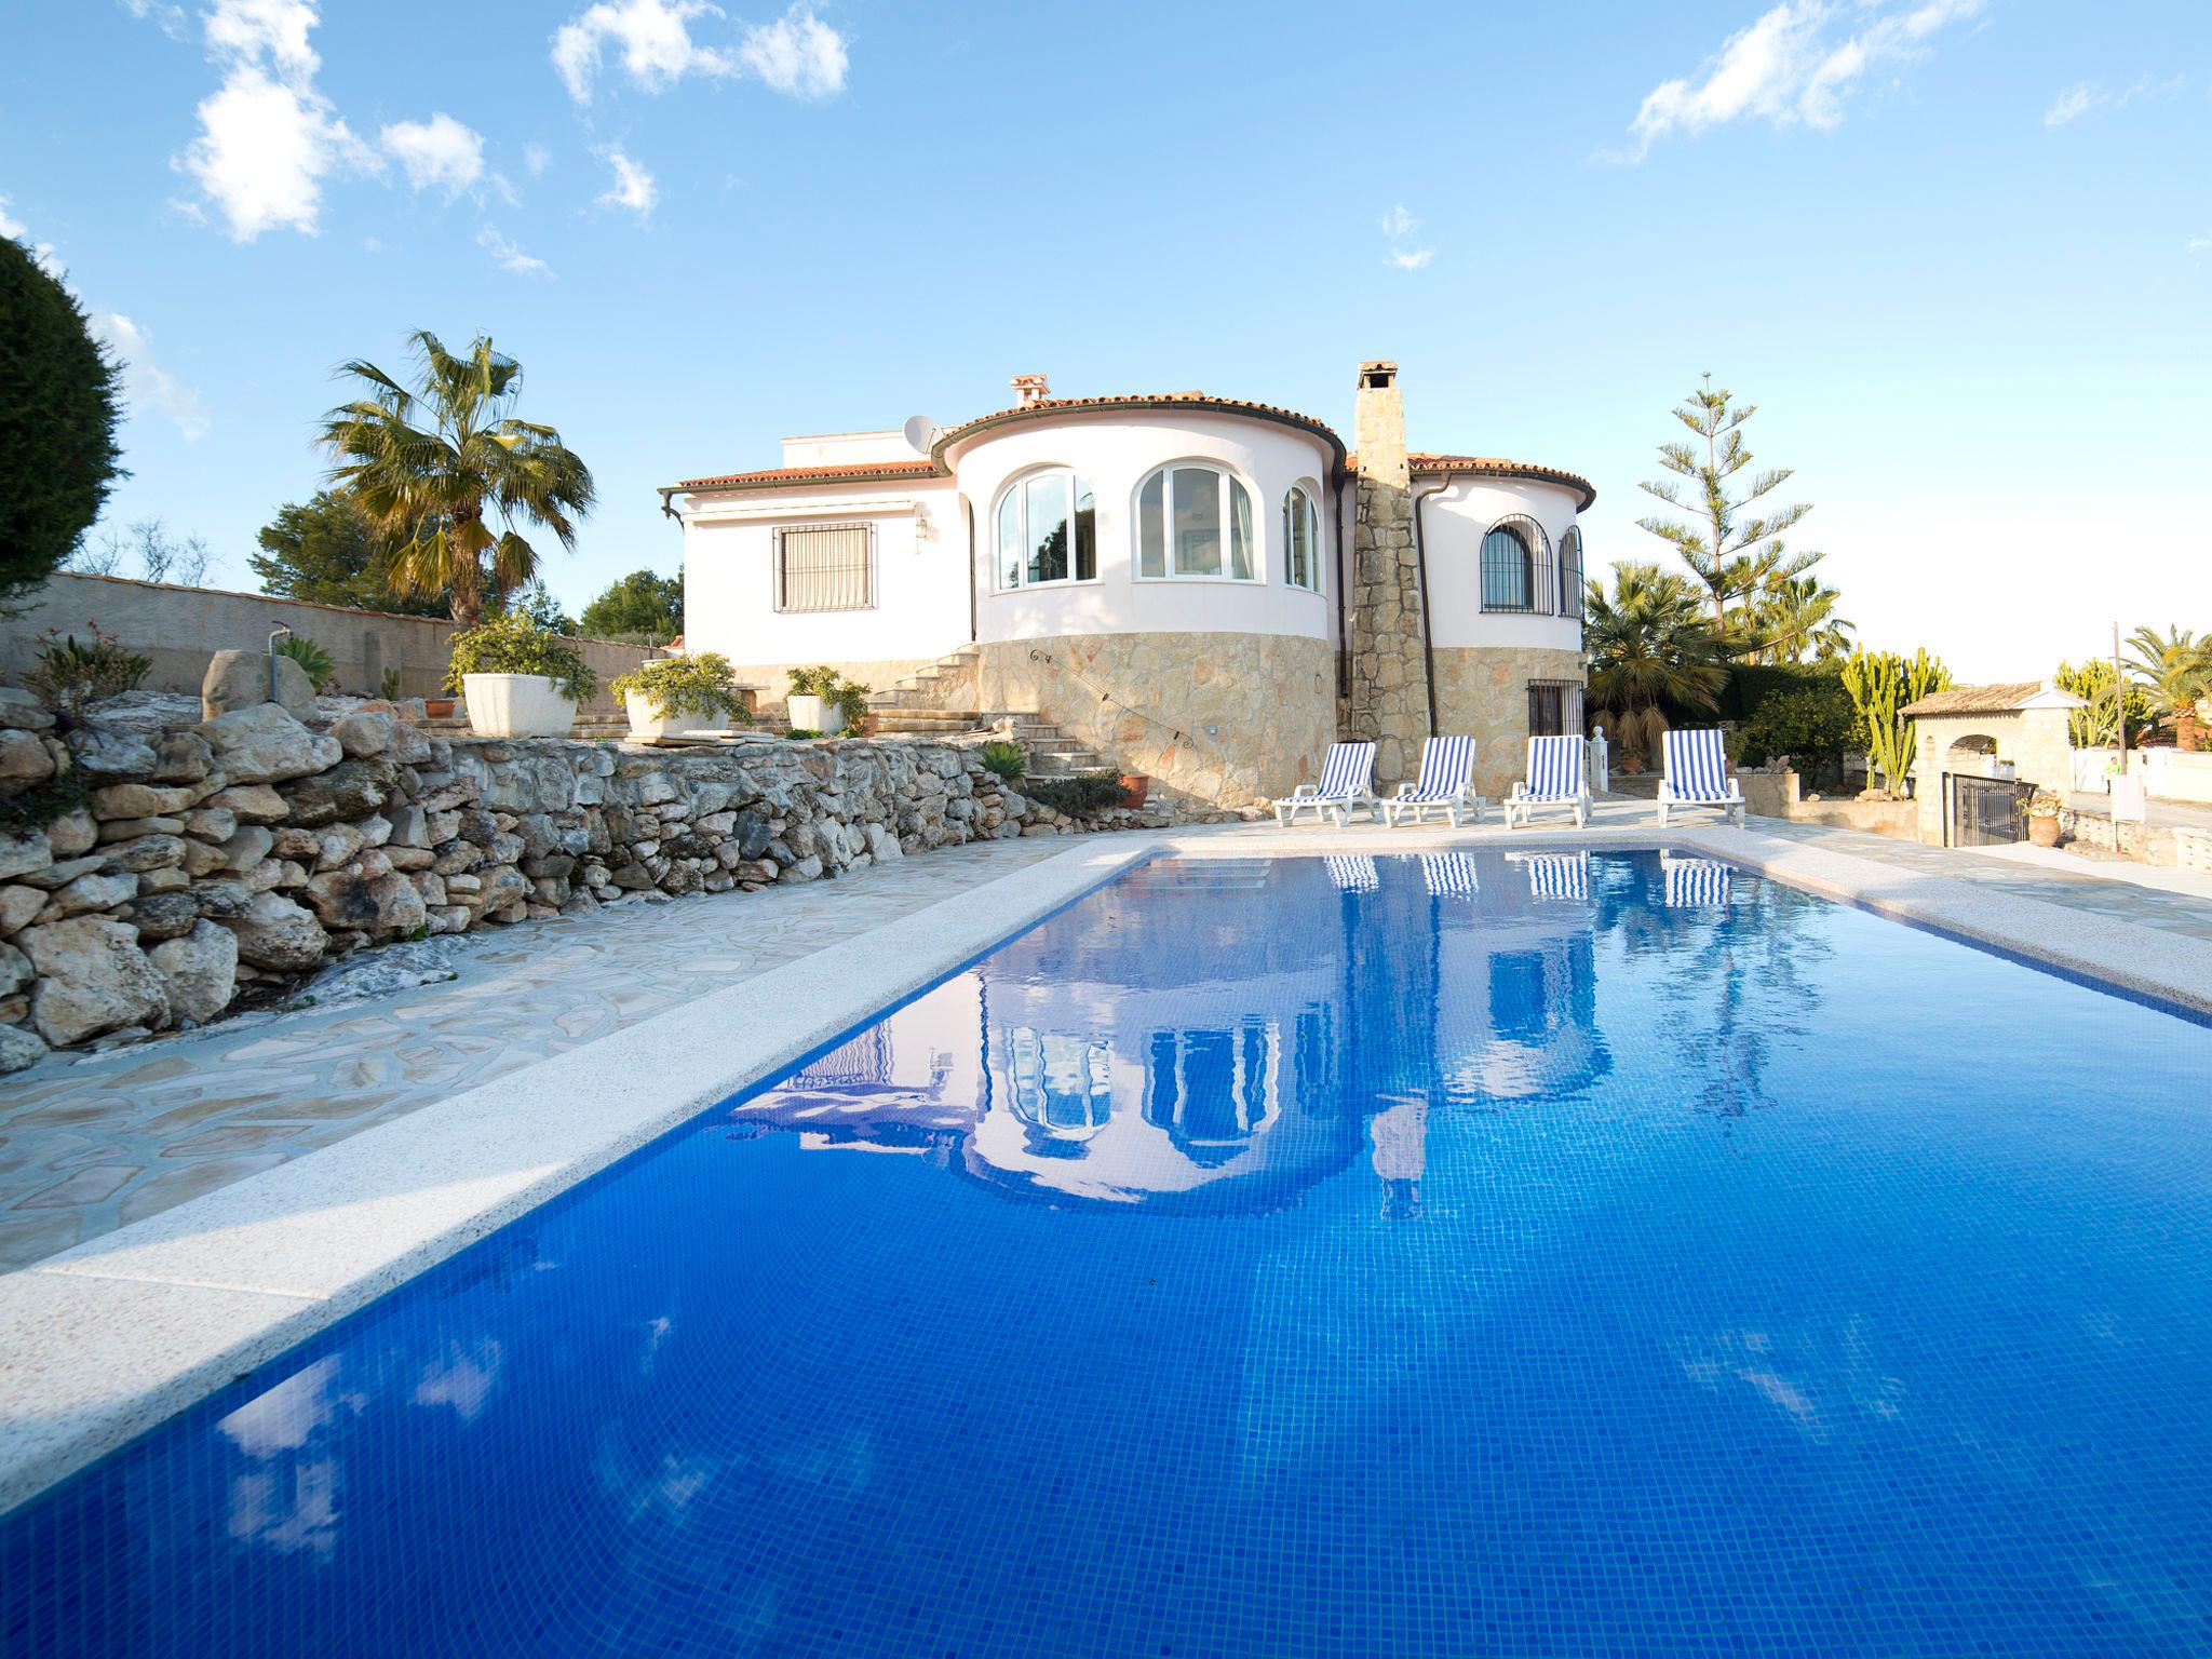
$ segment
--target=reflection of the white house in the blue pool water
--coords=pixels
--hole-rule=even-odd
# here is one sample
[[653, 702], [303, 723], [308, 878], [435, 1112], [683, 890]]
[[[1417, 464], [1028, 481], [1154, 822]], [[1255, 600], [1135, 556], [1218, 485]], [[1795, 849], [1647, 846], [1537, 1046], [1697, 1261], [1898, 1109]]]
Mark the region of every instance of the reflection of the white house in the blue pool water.
[[1272, 1210], [1369, 1150], [1389, 1212], [1416, 1214], [1431, 1104], [1606, 1071], [1584, 907], [1473, 865], [1383, 858], [1352, 887], [1321, 860], [1237, 865], [1150, 865], [732, 1115], [1179, 1210]]

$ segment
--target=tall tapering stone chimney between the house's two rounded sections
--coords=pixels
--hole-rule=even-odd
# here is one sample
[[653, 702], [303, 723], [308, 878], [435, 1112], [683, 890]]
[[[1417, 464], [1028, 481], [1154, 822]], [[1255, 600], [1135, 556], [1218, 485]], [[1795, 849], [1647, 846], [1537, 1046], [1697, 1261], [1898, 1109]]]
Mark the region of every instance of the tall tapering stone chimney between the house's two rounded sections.
[[1383, 787], [1420, 772], [1420, 743], [1429, 737], [1427, 619], [1396, 363], [1360, 363], [1352, 436], [1360, 476], [1345, 622], [1352, 679], [1343, 726], [1349, 739], [1376, 745], [1376, 785]]

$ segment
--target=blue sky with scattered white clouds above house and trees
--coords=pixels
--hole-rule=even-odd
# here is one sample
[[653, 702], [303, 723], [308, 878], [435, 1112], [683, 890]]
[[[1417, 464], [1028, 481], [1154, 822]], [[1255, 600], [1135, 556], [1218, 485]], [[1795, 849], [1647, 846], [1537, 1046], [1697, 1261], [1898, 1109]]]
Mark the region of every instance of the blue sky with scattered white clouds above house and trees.
[[0, 230], [133, 372], [111, 520], [254, 531], [332, 365], [489, 330], [604, 504], [776, 438], [1203, 387], [1595, 480], [1699, 372], [1871, 644], [2046, 672], [2212, 628], [2212, 7], [2135, 0], [714, 9], [29, 0]]

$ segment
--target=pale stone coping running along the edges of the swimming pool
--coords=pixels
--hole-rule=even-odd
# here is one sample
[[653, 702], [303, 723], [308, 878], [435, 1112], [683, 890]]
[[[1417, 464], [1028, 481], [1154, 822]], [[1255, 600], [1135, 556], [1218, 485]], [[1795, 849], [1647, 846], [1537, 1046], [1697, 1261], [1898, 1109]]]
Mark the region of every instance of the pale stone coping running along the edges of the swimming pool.
[[[1759, 830], [1241, 825], [1084, 838], [863, 938], [0, 1276], [0, 1511], [1144, 858], [1498, 845], [1725, 858], [1820, 898], [2212, 1015], [2212, 942]], [[712, 1044], [695, 1040], [701, 1029], [714, 1031]]]

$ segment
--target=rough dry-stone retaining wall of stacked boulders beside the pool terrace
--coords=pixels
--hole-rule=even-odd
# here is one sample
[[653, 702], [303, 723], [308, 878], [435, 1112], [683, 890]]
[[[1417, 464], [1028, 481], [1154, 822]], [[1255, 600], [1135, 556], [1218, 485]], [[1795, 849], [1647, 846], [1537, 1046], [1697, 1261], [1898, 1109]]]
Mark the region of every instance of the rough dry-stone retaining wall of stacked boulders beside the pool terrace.
[[58, 723], [0, 690], [0, 796], [51, 792], [71, 768], [82, 803], [0, 827], [0, 1071], [204, 1024], [392, 940], [1170, 823], [1113, 810], [1075, 825], [933, 739], [442, 739], [380, 703], [305, 723], [276, 703]]

